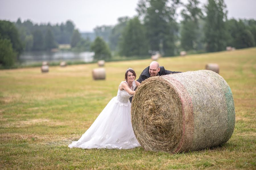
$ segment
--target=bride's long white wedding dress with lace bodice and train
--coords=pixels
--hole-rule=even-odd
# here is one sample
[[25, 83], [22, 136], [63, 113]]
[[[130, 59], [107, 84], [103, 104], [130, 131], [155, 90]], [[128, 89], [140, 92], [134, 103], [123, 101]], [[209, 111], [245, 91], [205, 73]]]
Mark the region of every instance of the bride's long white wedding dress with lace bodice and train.
[[[135, 87], [133, 81], [131, 90]], [[131, 125], [131, 96], [118, 88], [117, 96], [110, 100], [90, 128], [78, 141], [73, 141], [68, 146], [83, 149], [131, 149], [141, 146]]]

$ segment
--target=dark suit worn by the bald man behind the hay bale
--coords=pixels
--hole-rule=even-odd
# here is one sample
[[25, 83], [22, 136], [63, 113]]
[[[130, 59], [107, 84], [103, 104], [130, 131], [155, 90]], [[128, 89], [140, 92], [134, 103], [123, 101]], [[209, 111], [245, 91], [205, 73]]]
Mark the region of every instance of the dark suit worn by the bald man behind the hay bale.
[[[179, 71], [169, 71], [169, 70], [166, 70], [164, 69], [163, 66], [160, 66], [160, 71], [158, 72], [158, 76], [162, 76], [162, 75], [167, 75], [167, 74], [173, 74], [173, 73], [182, 73], [182, 72], [179, 72]], [[149, 66], [147, 68], [145, 68], [140, 77], [138, 78], [138, 82], [143, 82], [144, 80], [146, 80], [147, 78], [150, 77], [150, 74], [149, 74]], [[130, 97], [130, 102], [132, 101], [133, 97]]]

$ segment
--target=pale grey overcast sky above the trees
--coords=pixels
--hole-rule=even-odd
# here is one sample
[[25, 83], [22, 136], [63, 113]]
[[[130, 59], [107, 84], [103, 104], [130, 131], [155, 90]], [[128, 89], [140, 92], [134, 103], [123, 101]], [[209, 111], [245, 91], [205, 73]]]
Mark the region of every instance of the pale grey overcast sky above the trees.
[[[30, 19], [33, 23], [57, 24], [72, 20], [79, 31], [115, 25], [121, 16], [133, 17], [139, 0], [0, 0], [0, 19]], [[186, 3], [187, 0], [181, 0]], [[199, 0], [205, 4], [207, 0]], [[224, 0], [228, 18], [256, 20], [256, 0]]]

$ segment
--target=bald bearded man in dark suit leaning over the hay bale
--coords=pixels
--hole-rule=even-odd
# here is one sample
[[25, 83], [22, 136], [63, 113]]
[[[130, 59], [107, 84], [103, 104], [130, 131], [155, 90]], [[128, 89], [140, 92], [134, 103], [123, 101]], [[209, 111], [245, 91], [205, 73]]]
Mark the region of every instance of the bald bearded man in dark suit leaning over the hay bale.
[[[164, 69], [163, 66], [159, 66], [158, 62], [152, 61], [150, 65], [142, 71], [137, 81], [141, 83], [149, 77], [162, 76], [162, 75], [174, 74], [174, 73], [181, 73], [181, 72], [166, 70]], [[132, 101], [132, 99], [133, 97], [130, 97], [130, 102]]]

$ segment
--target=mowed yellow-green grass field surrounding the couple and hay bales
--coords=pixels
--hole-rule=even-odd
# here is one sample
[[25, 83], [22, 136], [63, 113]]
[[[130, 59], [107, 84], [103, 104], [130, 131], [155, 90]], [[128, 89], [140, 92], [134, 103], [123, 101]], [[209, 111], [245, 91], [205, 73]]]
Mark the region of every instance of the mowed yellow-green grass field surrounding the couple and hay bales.
[[0, 70], [0, 169], [256, 169], [256, 48], [160, 58], [171, 71], [218, 63], [234, 97], [236, 125], [220, 147], [167, 154], [68, 148], [117, 94], [128, 67], [137, 76], [151, 62], [107, 62], [106, 80], [92, 79], [94, 64]]

